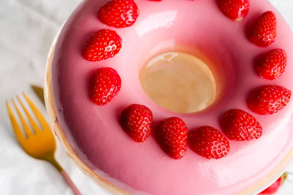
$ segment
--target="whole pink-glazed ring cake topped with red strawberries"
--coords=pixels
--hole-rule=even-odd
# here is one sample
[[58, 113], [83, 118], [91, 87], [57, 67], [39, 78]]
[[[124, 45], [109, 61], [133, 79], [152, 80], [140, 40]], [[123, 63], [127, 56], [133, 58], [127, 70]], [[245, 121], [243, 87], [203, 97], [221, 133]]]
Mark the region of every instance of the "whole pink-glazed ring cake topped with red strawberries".
[[[76, 164], [111, 194], [272, 184], [293, 159], [293, 34], [279, 12], [267, 0], [107, 1], [77, 7], [47, 64], [47, 110]], [[209, 66], [209, 106], [175, 112], [146, 93], [142, 72], [166, 52]]]

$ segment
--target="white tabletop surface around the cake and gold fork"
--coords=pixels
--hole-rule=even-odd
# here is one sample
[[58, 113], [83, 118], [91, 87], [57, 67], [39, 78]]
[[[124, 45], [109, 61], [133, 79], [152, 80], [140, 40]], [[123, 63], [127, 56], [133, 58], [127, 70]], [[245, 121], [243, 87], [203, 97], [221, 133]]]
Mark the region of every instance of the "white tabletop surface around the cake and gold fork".
[[[26, 92], [46, 113], [29, 84], [43, 84], [50, 44], [80, 1], [0, 0], [0, 195], [72, 195], [50, 164], [21, 150], [4, 102]], [[270, 1], [293, 29], [293, 0]], [[83, 195], [107, 195], [84, 176], [59, 143], [56, 158]], [[293, 163], [288, 171], [293, 173]], [[293, 176], [277, 195], [293, 195]]]

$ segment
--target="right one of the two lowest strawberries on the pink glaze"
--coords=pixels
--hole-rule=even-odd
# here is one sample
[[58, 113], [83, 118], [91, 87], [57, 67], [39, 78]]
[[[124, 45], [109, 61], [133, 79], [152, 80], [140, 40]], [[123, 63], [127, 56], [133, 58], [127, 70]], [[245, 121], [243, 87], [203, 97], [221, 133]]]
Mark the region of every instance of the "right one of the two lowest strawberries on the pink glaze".
[[188, 137], [191, 149], [208, 159], [219, 159], [228, 155], [230, 143], [217, 129], [209, 126], [199, 127]]

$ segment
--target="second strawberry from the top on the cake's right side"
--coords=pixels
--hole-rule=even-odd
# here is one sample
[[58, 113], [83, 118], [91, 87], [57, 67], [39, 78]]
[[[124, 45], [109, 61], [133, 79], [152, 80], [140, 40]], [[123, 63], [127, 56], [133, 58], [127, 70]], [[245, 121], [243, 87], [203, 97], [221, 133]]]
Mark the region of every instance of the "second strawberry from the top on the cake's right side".
[[276, 39], [277, 20], [273, 12], [267, 11], [252, 24], [249, 39], [259, 47], [268, 47]]

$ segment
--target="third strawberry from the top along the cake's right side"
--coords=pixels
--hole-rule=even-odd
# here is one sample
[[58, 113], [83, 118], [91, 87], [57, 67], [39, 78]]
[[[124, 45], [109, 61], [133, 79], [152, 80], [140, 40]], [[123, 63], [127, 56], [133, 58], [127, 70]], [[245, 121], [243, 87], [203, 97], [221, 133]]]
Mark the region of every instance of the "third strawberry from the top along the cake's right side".
[[283, 74], [286, 65], [286, 52], [282, 49], [275, 49], [257, 59], [255, 71], [260, 77], [273, 80]]

